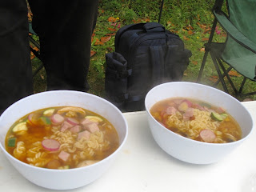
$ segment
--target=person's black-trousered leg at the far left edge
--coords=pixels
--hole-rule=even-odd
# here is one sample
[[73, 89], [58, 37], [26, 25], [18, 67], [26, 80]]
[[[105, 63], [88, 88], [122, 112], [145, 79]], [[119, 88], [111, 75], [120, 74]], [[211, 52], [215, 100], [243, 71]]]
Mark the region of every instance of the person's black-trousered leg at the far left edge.
[[0, 1], [0, 114], [33, 94], [26, 0]]

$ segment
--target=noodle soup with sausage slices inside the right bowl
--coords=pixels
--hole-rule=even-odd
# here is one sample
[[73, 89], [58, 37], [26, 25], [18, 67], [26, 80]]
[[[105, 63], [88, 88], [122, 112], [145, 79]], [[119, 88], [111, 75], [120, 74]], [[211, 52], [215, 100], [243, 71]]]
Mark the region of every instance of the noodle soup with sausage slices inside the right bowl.
[[157, 102], [150, 114], [167, 129], [201, 142], [234, 142], [242, 138], [238, 122], [222, 107], [190, 98]]

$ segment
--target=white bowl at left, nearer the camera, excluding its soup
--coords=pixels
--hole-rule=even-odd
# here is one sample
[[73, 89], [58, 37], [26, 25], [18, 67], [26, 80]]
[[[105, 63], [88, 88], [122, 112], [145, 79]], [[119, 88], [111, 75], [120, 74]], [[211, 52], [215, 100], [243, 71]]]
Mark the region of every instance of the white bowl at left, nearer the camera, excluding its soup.
[[[118, 131], [120, 146], [109, 157], [91, 166], [70, 170], [50, 170], [30, 166], [11, 156], [5, 149], [5, 137], [10, 126], [22, 116], [49, 106], [79, 106], [108, 119]], [[120, 110], [93, 94], [72, 90], [47, 91], [22, 98], [5, 110], [0, 117], [0, 147], [11, 164], [30, 182], [54, 190], [69, 190], [86, 186], [100, 178], [114, 162], [126, 142], [128, 126]]]

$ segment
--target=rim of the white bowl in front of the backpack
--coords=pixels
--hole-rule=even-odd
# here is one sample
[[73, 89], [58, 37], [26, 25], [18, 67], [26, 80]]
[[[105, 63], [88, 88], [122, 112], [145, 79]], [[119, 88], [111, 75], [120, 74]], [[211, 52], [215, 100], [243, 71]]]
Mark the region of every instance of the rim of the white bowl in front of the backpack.
[[[246, 107], [241, 104], [241, 102], [239, 102], [239, 103], [241, 104], [242, 108], [243, 108], [244, 110], [246, 110], [246, 112], [250, 115], [250, 122], [251, 122], [252, 126], [250, 127], [249, 133], [248, 133], [245, 137], [243, 137], [243, 138], [241, 138], [241, 139], [239, 139], [239, 140], [237, 140], [237, 141], [235, 141], [235, 142], [226, 142], [226, 143], [200, 142], [200, 141], [196, 141], [196, 140], [191, 139], [191, 138], [185, 138], [185, 137], [183, 137], [182, 135], [176, 134], [176, 133], [174, 133], [173, 131], [168, 130], [165, 126], [162, 126], [162, 124], [159, 123], [159, 122], [150, 114], [150, 109], [148, 108], [148, 106], [146, 105], [146, 103], [147, 103], [147, 100], [148, 100], [148, 98], [149, 98], [149, 95], [150, 95], [155, 89], [158, 89], [158, 88], [161, 87], [161, 86], [167, 86], [167, 85], [172, 85], [172, 84], [187, 84], [187, 85], [193, 84], [194, 86], [198, 86], [198, 87], [207, 87], [207, 89], [211, 89], [211, 90], [214, 90], [214, 91], [218, 91], [218, 92], [220, 92], [220, 93], [222, 93], [222, 94], [226, 94], [226, 96], [230, 97], [231, 99], [234, 99], [235, 102], [239, 102], [237, 98], [234, 98], [234, 97], [231, 96], [230, 94], [227, 94], [226, 92], [224, 92], [224, 91], [222, 91], [222, 90], [218, 90], [218, 89], [216, 89], [216, 88], [214, 88], [214, 87], [212, 87], [212, 86], [203, 85], [203, 84], [201, 84], [201, 83], [196, 83], [196, 82], [165, 82], [165, 83], [159, 84], [158, 86], [154, 86], [154, 87], [146, 94], [146, 98], [145, 98], [145, 109], [146, 109], [146, 114], [148, 114], [148, 116], [149, 116], [151, 119], [153, 119], [153, 121], [154, 121], [155, 123], [157, 123], [157, 124], [161, 127], [162, 130], [167, 131], [167, 133], [169, 133], [169, 134], [173, 134], [173, 135], [175, 135], [175, 136], [178, 136], [178, 138], [185, 139], [185, 141], [194, 142], [194, 143], [196, 143], [196, 144], [198, 144], [198, 145], [206, 145], [206, 146], [233, 146], [233, 145], [235, 145], [235, 144], [237, 144], [237, 143], [243, 142], [244, 140], [246, 140], [246, 138], [249, 138], [249, 137], [250, 137], [250, 134], [252, 134], [252, 131], [254, 130], [254, 121], [253, 121], [253, 118], [252, 118], [252, 116], [251, 116], [251, 114], [250, 114], [250, 111], [247, 110]], [[239, 126], [240, 126], [240, 125], [239, 125]], [[151, 128], [150, 128], [150, 129], [151, 129]]]

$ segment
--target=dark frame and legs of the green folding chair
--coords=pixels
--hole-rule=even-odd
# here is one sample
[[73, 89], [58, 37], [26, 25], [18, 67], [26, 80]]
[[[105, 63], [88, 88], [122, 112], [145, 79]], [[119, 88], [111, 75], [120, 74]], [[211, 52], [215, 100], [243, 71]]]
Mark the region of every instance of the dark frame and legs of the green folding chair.
[[[215, 4], [214, 4], [214, 7], [212, 9], [212, 12], [214, 13], [220, 13], [222, 10], [222, 5], [224, 3], [224, 0], [216, 0], [215, 1]], [[226, 7], [227, 7], [227, 10], [229, 11], [229, 6], [228, 6], [228, 1], [226, 1]], [[222, 12], [223, 14], [223, 12]], [[230, 13], [228, 13], [230, 14]], [[225, 14], [226, 15], [226, 14]], [[226, 15], [226, 18], [228, 18], [228, 16]], [[230, 72], [230, 70], [233, 69], [232, 66], [229, 66], [227, 69], [225, 68], [225, 66], [223, 65], [222, 61], [221, 61], [221, 57], [217, 57], [216, 55], [217, 52], [213, 50], [213, 46], [212, 45], [217, 45], [218, 42], [212, 42], [213, 41], [213, 38], [214, 38], [214, 31], [215, 31], [215, 27], [217, 26], [217, 23], [219, 23], [221, 26], [222, 26], [222, 23], [218, 21], [218, 18], [214, 17], [214, 22], [213, 22], [213, 25], [212, 25], [212, 28], [211, 28], [211, 31], [210, 31], [210, 37], [209, 37], [209, 40], [208, 42], [204, 45], [205, 46], [205, 54], [203, 56], [203, 59], [202, 59], [202, 65], [201, 65], [201, 68], [199, 70], [199, 74], [198, 74], [198, 79], [197, 79], [197, 82], [200, 82], [201, 81], [201, 78], [202, 78], [202, 72], [204, 70], [204, 67], [206, 65], [206, 58], [208, 56], [208, 54], [210, 53], [210, 56], [214, 62], [214, 66], [215, 66], [215, 69], [217, 70], [217, 73], [218, 73], [218, 80], [217, 82], [214, 83], [214, 87], [218, 85], [219, 82], [222, 83], [222, 87], [223, 87], [223, 90], [229, 94], [229, 90], [227, 89], [227, 86], [226, 86], [226, 82], [224, 81], [224, 78], [226, 77], [228, 82], [230, 82], [230, 86], [232, 87], [232, 89], [234, 90], [234, 94], [236, 96], [248, 96], [248, 95], [253, 95], [253, 94], [256, 94], [256, 91], [254, 92], [251, 92], [251, 93], [247, 93], [247, 94], [242, 94], [242, 89], [245, 85], [245, 82], [246, 82], [246, 77], [244, 76], [243, 80], [242, 80], [242, 84], [239, 88], [239, 90], [236, 89], [236, 87], [234, 86], [234, 83], [232, 82], [231, 78], [230, 78], [230, 75], [228, 74]], [[222, 28], [226, 31], [226, 29], [224, 28], [224, 26], [222, 26]], [[231, 38], [234, 38], [231, 36], [230, 33], [228, 33], [228, 31], [226, 31], [227, 34], [230, 35]], [[254, 52], [256, 54], [256, 50], [254, 50], [254, 48], [250, 48], [248, 46], [246, 46], [245, 44], [243, 44], [242, 42], [239, 42], [238, 40], [234, 39], [236, 42], [238, 42], [240, 45], [242, 46], [245, 46], [248, 50], [251, 50], [252, 52]], [[219, 43], [219, 44], [222, 44], [222, 46], [224, 47], [226, 45], [226, 42], [223, 42], [223, 43]], [[223, 45], [224, 44], [224, 45]], [[224, 62], [224, 61], [223, 61]], [[229, 63], [227, 63], [229, 64]], [[220, 68], [222, 69], [223, 72], [221, 72]], [[250, 79], [251, 80], [251, 79]], [[252, 80], [254, 81], [254, 80]], [[256, 79], [255, 79], [256, 81]]]

